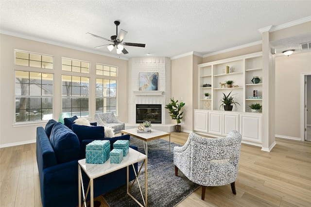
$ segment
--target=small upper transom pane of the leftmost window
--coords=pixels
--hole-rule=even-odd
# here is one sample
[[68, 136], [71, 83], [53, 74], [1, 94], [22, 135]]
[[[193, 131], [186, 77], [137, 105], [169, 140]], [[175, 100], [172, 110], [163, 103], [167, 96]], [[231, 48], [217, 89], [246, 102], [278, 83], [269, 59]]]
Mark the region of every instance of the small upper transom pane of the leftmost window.
[[53, 56], [15, 50], [15, 65], [53, 69]]

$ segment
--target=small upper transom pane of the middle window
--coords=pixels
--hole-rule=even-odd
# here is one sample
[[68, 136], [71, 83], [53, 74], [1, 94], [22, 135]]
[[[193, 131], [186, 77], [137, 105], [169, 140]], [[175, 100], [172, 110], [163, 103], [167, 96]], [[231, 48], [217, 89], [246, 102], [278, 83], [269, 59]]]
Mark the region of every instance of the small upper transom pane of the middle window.
[[62, 70], [89, 73], [89, 62], [62, 58]]

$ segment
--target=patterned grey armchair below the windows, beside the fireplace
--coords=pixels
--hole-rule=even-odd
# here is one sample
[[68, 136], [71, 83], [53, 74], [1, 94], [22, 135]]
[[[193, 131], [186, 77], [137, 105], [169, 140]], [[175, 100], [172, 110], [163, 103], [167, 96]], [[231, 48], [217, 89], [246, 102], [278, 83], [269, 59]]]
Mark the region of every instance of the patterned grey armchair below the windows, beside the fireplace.
[[125, 123], [119, 121], [113, 112], [94, 114], [94, 121], [97, 122], [97, 126], [113, 128], [115, 134], [125, 129]]

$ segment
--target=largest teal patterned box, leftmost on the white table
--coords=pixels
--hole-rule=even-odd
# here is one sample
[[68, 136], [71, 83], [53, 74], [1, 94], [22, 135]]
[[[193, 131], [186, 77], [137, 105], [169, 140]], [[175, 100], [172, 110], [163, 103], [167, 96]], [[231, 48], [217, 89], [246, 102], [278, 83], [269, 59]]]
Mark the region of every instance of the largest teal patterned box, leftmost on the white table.
[[109, 156], [109, 140], [94, 140], [86, 145], [86, 163], [103, 164]]

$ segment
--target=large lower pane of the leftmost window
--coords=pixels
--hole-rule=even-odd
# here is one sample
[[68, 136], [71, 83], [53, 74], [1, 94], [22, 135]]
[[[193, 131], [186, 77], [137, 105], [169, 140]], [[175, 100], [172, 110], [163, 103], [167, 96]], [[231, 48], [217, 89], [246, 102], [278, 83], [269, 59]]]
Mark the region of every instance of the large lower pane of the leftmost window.
[[15, 71], [15, 122], [52, 119], [53, 74]]

